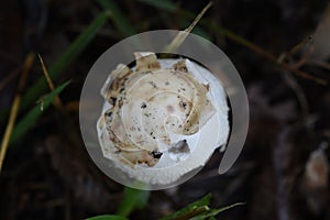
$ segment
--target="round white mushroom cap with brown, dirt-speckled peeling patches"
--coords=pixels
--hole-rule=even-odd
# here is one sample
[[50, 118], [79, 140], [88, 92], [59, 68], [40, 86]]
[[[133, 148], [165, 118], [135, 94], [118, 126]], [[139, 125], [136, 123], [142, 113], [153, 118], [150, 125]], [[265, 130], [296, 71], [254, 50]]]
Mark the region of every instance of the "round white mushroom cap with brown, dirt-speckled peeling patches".
[[168, 185], [205, 165], [229, 134], [221, 82], [189, 59], [135, 53], [110, 74], [98, 120], [103, 155], [131, 178]]

